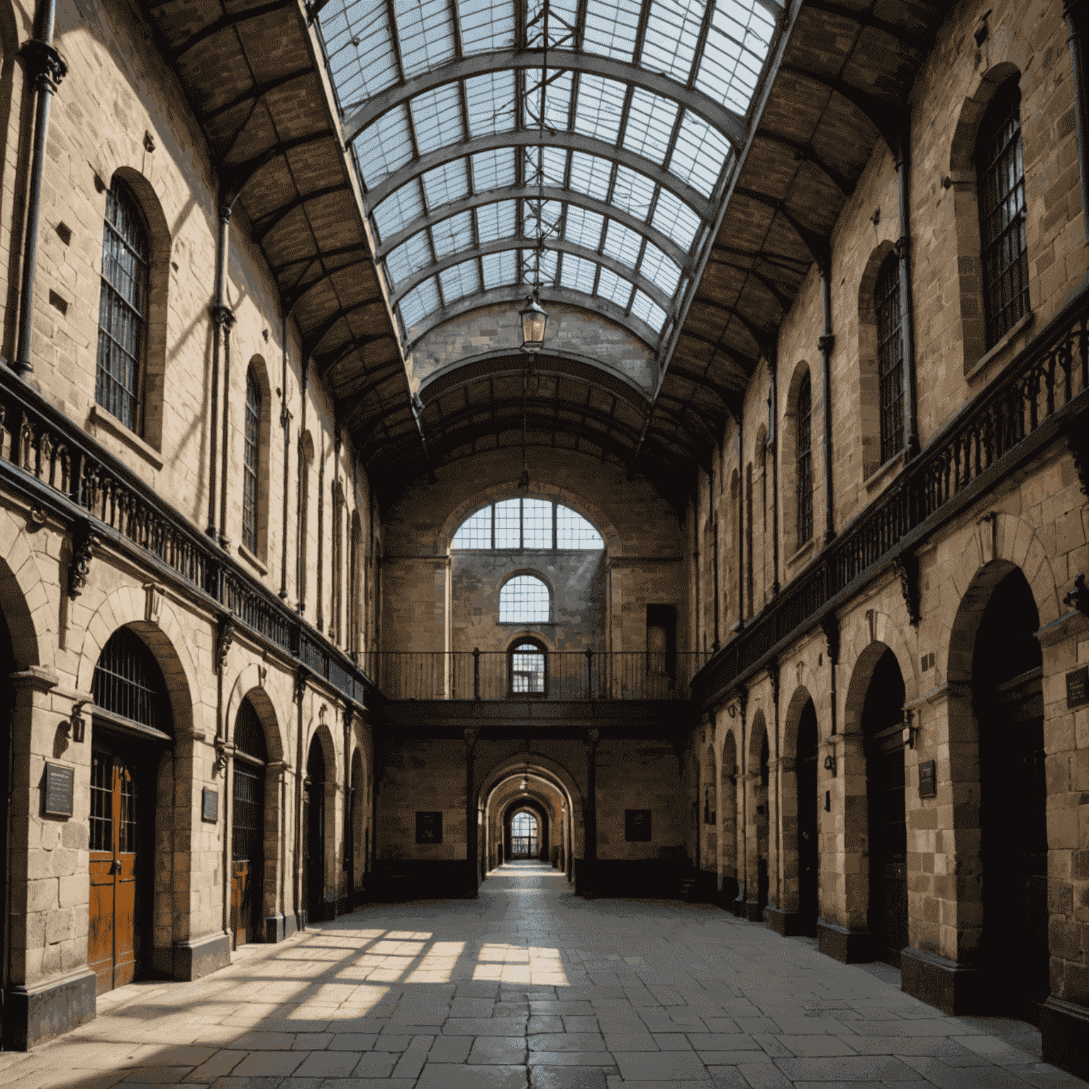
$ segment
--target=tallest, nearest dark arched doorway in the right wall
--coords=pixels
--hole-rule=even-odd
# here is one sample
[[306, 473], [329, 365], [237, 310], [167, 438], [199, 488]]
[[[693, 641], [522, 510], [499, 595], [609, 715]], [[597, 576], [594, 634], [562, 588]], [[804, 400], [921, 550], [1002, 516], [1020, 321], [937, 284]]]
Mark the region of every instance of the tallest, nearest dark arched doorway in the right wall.
[[987, 602], [972, 651], [982, 955], [1003, 1012], [1035, 1025], [1050, 991], [1043, 659], [1035, 638], [1039, 626], [1032, 591], [1014, 567]]

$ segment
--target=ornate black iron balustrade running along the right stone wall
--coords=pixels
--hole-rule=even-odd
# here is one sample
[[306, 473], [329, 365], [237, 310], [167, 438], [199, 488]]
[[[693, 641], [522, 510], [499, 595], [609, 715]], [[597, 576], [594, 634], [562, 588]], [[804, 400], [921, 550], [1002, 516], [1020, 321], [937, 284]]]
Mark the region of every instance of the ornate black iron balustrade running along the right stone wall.
[[[693, 678], [694, 699], [706, 707], [738, 689], [893, 564], [902, 574], [907, 619], [915, 623], [914, 548], [1056, 438], [1069, 435], [1086, 449], [1087, 409], [1089, 290], [1073, 298], [810, 567], [707, 663]], [[1075, 456], [1084, 462], [1084, 454]]]

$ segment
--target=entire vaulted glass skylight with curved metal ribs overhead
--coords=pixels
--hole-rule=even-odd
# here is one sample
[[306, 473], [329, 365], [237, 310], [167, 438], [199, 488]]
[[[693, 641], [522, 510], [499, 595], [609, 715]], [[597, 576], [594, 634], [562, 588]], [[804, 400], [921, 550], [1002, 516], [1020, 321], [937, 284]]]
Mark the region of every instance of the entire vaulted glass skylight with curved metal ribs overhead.
[[322, 5], [409, 347], [537, 280], [543, 299], [602, 310], [664, 348], [710, 245], [779, 4], [550, 0], [547, 21], [542, 4]]

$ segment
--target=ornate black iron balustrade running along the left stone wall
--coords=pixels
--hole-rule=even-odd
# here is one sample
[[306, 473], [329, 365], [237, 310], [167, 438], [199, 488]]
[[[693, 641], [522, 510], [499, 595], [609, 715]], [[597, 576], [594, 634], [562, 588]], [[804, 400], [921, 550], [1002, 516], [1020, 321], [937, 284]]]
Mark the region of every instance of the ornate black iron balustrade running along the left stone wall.
[[183, 592], [210, 598], [348, 699], [367, 702], [375, 685], [355, 662], [7, 367], [0, 367], [0, 485], [27, 499], [32, 518], [51, 511], [71, 527], [73, 596], [95, 539], [108, 541]]

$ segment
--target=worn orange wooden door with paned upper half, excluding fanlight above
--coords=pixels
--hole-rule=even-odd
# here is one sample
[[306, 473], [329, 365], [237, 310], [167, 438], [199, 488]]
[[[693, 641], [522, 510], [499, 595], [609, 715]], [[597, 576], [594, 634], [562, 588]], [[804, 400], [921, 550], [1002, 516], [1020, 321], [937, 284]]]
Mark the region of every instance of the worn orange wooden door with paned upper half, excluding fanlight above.
[[90, 930], [87, 964], [96, 993], [131, 982], [139, 968], [136, 779], [118, 757], [94, 752], [90, 767]]

